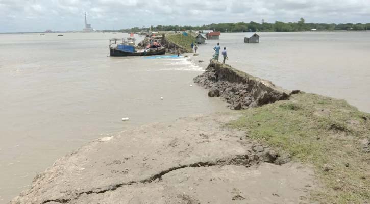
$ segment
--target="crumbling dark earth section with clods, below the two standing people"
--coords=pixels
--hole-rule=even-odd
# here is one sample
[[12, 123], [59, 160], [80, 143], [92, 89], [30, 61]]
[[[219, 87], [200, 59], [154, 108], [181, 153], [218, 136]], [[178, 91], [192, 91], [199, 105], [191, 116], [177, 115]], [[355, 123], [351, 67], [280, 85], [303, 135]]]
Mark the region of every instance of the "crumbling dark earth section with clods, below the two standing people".
[[223, 97], [233, 110], [246, 109], [286, 100], [290, 92], [272, 82], [252, 77], [233, 67], [211, 60], [206, 71], [194, 82], [210, 89], [208, 96]]

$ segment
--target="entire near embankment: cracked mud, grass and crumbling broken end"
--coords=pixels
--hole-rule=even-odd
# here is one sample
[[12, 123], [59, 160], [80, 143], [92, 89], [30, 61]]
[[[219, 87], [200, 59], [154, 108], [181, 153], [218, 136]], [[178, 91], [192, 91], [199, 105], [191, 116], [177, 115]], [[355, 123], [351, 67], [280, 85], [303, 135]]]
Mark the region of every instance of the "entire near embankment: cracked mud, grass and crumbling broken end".
[[217, 62], [195, 81], [234, 109], [284, 101], [101, 138], [56, 161], [11, 203], [369, 202], [370, 114], [315, 94], [289, 98]]

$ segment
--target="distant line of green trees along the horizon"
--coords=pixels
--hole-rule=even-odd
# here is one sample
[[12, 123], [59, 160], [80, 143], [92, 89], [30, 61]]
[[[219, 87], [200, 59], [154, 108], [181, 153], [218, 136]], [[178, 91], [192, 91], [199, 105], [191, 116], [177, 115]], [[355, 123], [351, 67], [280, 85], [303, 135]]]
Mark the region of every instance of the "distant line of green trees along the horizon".
[[[327, 24], [327, 23], [306, 23], [304, 18], [301, 18], [298, 22], [281, 22], [275, 21], [275, 23], [262, 22], [238, 22], [238, 23], [218, 23], [209, 24], [202, 26], [190, 26], [190, 25], [157, 25], [151, 26], [150, 28], [145, 27], [134, 27], [130, 29], [121, 29], [119, 32], [138, 33], [142, 30], [151, 31], [185, 31], [185, 30], [213, 30], [220, 32], [293, 32], [293, 31], [310, 31], [316, 29], [317, 31], [365, 31], [370, 30], [370, 23], [366, 24], [353, 24], [353, 23], [340, 23], [340, 24]], [[109, 31], [107, 31], [109, 32]]]

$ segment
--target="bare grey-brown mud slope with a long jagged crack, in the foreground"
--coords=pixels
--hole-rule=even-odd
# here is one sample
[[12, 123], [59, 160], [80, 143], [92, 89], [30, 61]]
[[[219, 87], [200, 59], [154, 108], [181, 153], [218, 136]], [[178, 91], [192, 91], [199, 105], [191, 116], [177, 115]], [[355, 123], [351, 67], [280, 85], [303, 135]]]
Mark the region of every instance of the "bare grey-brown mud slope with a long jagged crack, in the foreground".
[[180, 118], [95, 140], [11, 203], [308, 203], [313, 172], [272, 164], [274, 151], [222, 127], [236, 117]]

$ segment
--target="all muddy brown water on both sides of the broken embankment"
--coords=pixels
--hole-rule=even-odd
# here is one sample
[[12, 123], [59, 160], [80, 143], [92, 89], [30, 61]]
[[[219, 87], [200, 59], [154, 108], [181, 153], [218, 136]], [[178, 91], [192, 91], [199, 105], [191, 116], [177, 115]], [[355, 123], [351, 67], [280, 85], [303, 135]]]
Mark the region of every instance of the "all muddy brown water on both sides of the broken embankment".
[[238, 69], [370, 112], [370, 32], [260, 33], [258, 44], [244, 44], [244, 34], [201, 45], [193, 57], [205, 61], [199, 66], [185, 58], [107, 57], [108, 39], [127, 36], [122, 33], [1, 34], [0, 203], [92, 139], [226, 110], [206, 90], [190, 86], [217, 42]]

